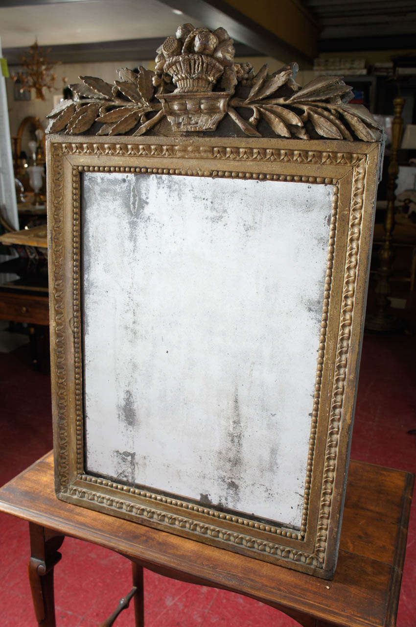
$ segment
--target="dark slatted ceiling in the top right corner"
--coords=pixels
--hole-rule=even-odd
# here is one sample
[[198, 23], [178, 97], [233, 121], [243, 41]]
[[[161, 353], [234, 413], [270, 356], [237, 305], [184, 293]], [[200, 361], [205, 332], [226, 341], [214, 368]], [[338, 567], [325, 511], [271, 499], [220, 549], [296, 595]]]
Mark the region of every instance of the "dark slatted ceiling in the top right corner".
[[320, 52], [416, 48], [415, 0], [303, 0]]

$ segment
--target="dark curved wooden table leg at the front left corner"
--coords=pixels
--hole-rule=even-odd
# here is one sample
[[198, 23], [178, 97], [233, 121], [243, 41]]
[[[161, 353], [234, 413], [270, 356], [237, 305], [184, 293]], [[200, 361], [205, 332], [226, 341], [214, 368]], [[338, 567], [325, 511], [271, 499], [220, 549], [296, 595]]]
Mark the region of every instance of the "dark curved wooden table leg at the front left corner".
[[61, 559], [58, 549], [65, 536], [32, 522], [29, 522], [29, 534], [28, 571], [36, 620], [42, 627], [56, 627], [53, 569]]

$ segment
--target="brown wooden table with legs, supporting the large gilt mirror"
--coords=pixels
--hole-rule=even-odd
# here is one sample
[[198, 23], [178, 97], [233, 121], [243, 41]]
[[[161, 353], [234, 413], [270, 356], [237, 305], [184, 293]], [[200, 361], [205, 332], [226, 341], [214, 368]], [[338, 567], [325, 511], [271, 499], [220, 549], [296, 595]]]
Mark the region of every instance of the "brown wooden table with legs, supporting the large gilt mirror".
[[333, 581], [61, 502], [53, 490], [51, 453], [0, 489], [0, 510], [29, 521], [29, 578], [36, 617], [44, 627], [55, 626], [53, 567], [66, 535], [133, 562], [137, 626], [145, 624], [145, 567], [244, 594], [304, 627], [380, 627], [395, 624], [412, 488], [409, 473], [351, 461]]

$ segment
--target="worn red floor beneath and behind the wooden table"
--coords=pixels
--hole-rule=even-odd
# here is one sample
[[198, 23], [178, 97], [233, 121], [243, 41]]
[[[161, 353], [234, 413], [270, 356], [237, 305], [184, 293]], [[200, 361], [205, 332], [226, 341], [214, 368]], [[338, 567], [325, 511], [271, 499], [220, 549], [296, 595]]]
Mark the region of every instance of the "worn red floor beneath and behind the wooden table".
[[[351, 457], [416, 472], [416, 335], [365, 335]], [[52, 446], [49, 377], [29, 366], [28, 348], [0, 353], [0, 485]], [[416, 501], [416, 499], [415, 499]], [[55, 569], [58, 627], [96, 627], [130, 589], [130, 567], [107, 549], [66, 539]], [[0, 515], [3, 627], [36, 624], [29, 591], [28, 525]], [[397, 627], [416, 625], [416, 502], [412, 506]], [[278, 582], [277, 582], [278, 585]], [[147, 627], [294, 627], [273, 608], [237, 594], [146, 571]], [[132, 608], [115, 623], [132, 626]]]

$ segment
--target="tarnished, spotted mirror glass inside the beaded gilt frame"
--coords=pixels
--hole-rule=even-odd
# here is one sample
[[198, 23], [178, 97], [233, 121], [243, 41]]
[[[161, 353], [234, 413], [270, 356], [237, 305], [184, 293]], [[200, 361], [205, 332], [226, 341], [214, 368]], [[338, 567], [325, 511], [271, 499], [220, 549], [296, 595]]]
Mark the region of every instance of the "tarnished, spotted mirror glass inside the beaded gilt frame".
[[87, 472], [299, 529], [332, 197], [83, 174]]

